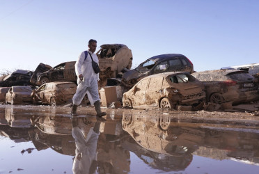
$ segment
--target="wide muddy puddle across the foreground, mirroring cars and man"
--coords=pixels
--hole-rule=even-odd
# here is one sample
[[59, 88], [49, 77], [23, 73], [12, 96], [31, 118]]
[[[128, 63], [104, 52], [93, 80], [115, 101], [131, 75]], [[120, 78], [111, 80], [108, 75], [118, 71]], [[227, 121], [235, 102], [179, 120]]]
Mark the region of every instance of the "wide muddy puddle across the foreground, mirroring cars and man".
[[0, 173], [258, 173], [259, 127], [245, 122], [88, 113], [0, 106]]

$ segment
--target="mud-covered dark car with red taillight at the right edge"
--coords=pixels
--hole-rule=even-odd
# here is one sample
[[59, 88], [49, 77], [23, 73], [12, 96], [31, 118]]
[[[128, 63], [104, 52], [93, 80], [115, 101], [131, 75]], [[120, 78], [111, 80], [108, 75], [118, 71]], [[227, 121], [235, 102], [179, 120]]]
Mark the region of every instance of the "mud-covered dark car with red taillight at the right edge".
[[258, 80], [247, 71], [209, 70], [192, 74], [203, 81], [207, 102], [249, 102], [259, 100]]

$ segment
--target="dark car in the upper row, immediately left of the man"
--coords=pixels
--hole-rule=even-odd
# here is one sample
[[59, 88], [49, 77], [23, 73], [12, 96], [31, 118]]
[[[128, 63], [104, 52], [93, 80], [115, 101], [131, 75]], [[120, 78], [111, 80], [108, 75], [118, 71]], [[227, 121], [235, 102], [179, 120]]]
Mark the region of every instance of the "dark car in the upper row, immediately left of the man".
[[76, 62], [65, 62], [56, 65], [54, 68], [42, 72], [38, 75], [38, 84], [45, 84], [51, 81], [77, 81], [77, 75], [74, 71], [74, 64]]

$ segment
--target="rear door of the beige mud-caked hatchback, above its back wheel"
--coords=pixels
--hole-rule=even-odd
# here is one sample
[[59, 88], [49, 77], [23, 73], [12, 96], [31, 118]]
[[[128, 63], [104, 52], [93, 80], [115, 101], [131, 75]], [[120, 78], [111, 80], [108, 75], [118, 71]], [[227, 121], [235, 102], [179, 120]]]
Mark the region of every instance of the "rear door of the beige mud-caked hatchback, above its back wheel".
[[148, 88], [146, 90], [146, 104], [150, 106], [158, 106], [160, 90], [163, 84], [163, 77], [150, 77]]

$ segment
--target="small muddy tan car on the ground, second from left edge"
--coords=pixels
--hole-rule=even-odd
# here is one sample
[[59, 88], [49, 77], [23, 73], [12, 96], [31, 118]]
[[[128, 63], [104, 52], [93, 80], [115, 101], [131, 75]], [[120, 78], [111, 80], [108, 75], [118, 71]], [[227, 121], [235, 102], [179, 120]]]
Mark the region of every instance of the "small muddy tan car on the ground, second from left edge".
[[6, 93], [6, 103], [22, 104], [23, 102], [32, 102], [32, 89], [30, 86], [12, 86]]

